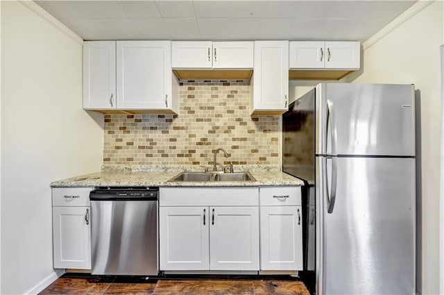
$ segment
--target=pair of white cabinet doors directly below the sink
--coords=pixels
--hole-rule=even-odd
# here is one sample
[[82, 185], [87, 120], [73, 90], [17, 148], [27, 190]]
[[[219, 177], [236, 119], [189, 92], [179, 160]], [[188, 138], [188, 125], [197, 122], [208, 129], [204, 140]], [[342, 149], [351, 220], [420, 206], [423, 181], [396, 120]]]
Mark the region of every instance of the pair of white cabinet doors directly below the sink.
[[259, 270], [258, 208], [160, 208], [160, 269]]

